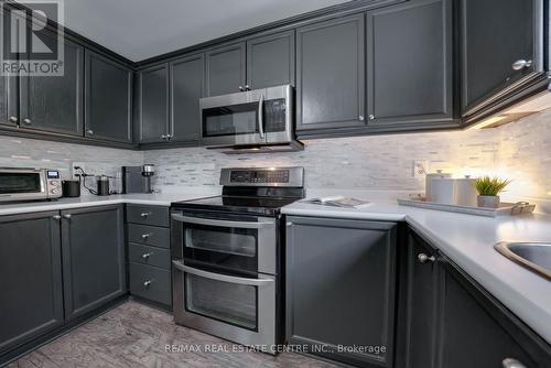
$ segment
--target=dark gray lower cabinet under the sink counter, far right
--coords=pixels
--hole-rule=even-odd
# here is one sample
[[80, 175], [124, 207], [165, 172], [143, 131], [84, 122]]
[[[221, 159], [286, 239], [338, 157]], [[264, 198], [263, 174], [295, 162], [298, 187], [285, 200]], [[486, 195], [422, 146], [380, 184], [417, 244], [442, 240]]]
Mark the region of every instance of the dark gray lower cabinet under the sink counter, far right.
[[551, 346], [417, 234], [406, 257], [399, 366], [488, 368], [506, 367], [506, 359], [523, 365], [518, 367], [550, 366]]

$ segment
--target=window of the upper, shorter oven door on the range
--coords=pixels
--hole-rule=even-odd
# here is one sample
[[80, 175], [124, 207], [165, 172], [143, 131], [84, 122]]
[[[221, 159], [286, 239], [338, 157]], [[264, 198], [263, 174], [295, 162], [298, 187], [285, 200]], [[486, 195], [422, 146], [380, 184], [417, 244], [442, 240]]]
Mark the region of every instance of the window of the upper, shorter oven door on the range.
[[187, 248], [252, 258], [257, 253], [257, 229], [186, 224], [184, 231]]

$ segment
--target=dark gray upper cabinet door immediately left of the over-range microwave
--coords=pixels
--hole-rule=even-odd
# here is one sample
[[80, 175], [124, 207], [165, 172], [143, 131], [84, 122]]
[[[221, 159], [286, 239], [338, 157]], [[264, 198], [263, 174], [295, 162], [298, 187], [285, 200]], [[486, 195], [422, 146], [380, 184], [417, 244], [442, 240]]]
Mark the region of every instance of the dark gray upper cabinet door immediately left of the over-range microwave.
[[203, 54], [177, 59], [171, 67], [171, 134], [179, 142], [201, 138], [199, 98], [204, 96]]

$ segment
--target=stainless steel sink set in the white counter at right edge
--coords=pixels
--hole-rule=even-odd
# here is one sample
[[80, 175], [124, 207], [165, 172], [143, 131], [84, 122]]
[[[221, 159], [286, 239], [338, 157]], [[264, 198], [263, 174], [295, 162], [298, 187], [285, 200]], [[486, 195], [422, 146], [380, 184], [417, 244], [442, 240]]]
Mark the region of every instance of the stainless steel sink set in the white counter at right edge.
[[510, 260], [551, 280], [550, 242], [498, 242], [498, 252]]

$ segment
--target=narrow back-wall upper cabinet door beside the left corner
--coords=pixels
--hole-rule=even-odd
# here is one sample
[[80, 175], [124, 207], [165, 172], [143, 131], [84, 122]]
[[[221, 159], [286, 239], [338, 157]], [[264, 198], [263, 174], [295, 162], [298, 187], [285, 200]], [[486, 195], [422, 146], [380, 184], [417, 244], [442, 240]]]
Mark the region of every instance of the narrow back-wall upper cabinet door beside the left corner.
[[140, 72], [140, 142], [164, 142], [169, 134], [169, 64]]

